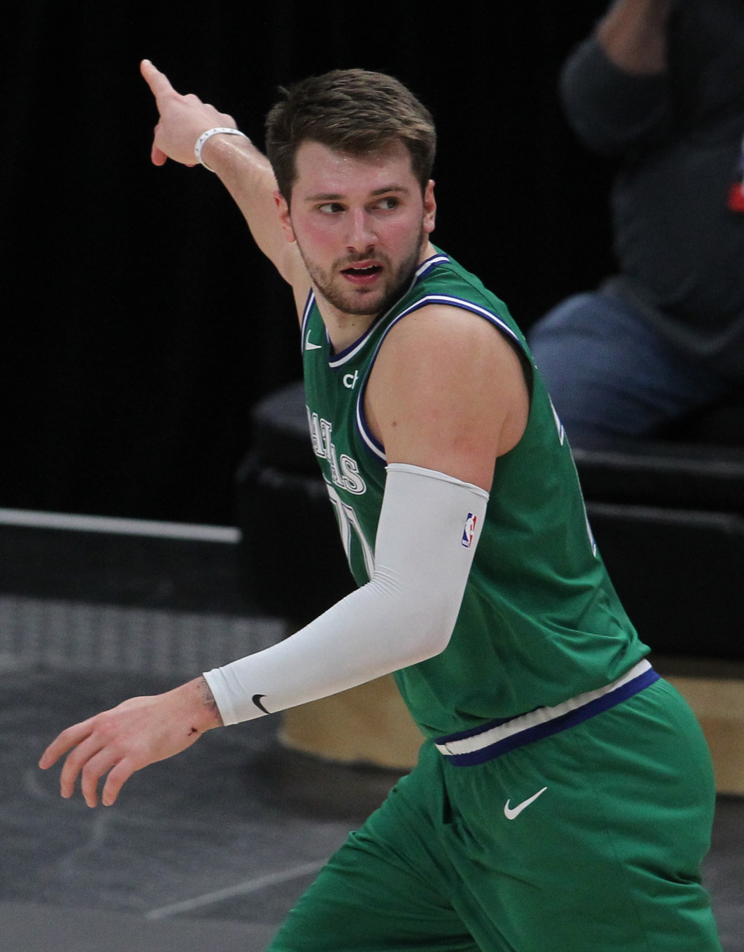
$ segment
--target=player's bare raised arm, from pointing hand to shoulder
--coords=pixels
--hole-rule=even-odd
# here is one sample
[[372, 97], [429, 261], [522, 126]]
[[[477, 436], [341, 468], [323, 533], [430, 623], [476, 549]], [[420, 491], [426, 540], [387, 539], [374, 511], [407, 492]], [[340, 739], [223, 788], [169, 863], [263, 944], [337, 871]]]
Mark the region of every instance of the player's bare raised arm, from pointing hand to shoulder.
[[[140, 69], [160, 112], [151, 152], [154, 165], [162, 166], [172, 159], [193, 166], [194, 147], [203, 132], [220, 127], [235, 129], [232, 116], [218, 112], [192, 93], [182, 96], [176, 92], [166, 75], [149, 60], [143, 60]], [[202, 159], [235, 199], [256, 244], [284, 280], [293, 287], [307, 284], [298, 248], [287, 242], [280, 225], [276, 179], [264, 154], [243, 136], [216, 134], [206, 140]]]

